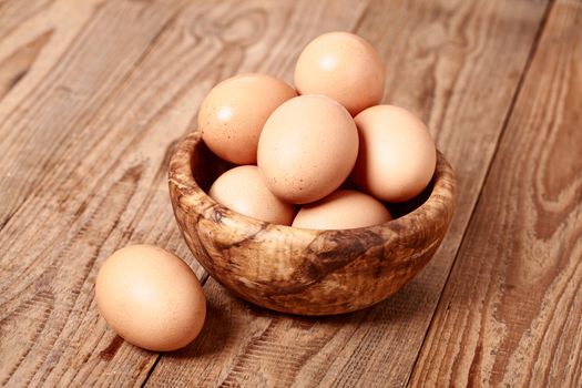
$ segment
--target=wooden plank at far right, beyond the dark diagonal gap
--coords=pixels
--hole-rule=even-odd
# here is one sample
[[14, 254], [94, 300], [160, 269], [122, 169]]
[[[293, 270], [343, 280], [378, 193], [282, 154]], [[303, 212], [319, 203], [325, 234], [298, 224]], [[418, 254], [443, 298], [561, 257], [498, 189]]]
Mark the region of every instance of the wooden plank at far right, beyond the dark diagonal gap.
[[582, 386], [581, 25], [553, 6], [412, 386]]

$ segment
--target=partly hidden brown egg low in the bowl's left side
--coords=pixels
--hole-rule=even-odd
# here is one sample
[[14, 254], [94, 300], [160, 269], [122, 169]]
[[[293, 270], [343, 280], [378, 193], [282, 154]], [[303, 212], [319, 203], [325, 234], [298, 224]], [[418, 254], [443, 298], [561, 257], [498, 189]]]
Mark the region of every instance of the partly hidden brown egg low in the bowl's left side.
[[294, 206], [267, 188], [255, 165], [228, 170], [214, 182], [210, 195], [235, 212], [273, 224], [290, 225], [295, 216]]

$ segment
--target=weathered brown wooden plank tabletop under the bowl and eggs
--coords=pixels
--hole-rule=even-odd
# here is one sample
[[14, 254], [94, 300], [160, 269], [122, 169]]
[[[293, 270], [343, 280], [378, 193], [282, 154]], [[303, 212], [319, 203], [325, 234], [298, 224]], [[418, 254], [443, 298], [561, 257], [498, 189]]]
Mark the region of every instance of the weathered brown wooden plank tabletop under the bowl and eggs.
[[[205, 93], [292, 81], [302, 48], [354, 31], [385, 102], [430, 126], [458, 207], [389, 300], [300, 318], [232, 297], [187, 251], [166, 165]], [[582, 2], [0, 0], [0, 386], [582, 386]], [[208, 317], [155, 354], [109, 329], [101, 263], [182, 256]]]

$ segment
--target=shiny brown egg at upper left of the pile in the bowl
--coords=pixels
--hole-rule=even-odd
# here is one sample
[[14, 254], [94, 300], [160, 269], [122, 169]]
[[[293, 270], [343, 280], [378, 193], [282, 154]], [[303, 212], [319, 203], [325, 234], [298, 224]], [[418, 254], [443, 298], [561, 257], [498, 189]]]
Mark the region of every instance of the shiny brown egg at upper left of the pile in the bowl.
[[235, 164], [255, 164], [265, 121], [296, 96], [287, 83], [265, 74], [243, 74], [214, 86], [202, 102], [198, 129], [216, 155]]

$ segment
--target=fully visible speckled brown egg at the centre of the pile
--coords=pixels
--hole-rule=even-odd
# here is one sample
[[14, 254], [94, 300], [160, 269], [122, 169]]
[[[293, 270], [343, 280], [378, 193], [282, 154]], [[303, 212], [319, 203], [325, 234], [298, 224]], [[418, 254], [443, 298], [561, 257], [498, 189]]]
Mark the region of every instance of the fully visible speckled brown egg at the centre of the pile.
[[258, 169], [275, 195], [304, 204], [339, 187], [357, 153], [358, 131], [346, 109], [325, 95], [300, 95], [283, 103], [265, 123]]

